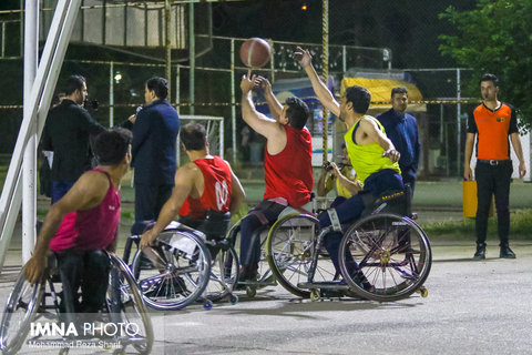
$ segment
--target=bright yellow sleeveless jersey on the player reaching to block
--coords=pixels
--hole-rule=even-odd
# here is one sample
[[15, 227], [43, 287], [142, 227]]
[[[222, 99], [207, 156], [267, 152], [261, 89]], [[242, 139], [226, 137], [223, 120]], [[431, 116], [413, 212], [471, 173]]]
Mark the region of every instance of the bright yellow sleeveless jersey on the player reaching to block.
[[[377, 120], [375, 121], [382, 133], [386, 133], [382, 124]], [[352, 132], [355, 132], [359, 124], [360, 121], [354, 124], [344, 135], [347, 153], [349, 154], [352, 168], [357, 172], [358, 179], [364, 183], [369, 175], [385, 169], [391, 169], [401, 173], [397, 162], [392, 163], [389, 158], [382, 158], [385, 150], [379, 144], [369, 143], [366, 145], [358, 145], [352, 142]]]

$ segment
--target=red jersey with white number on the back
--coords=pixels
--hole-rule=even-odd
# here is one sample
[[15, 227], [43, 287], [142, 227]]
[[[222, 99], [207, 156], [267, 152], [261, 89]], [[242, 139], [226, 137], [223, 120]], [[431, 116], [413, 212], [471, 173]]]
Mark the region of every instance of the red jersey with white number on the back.
[[200, 199], [188, 196], [180, 210], [180, 215], [191, 219], [205, 219], [207, 210], [216, 212], [229, 211], [231, 202], [231, 168], [222, 158], [209, 158], [194, 161], [202, 171], [204, 191]]

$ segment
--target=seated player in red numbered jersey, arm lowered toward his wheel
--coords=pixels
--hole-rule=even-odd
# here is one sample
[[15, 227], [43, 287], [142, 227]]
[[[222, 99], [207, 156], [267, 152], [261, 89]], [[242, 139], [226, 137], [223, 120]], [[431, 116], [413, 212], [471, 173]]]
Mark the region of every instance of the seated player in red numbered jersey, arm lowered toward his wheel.
[[208, 153], [202, 124], [186, 124], [180, 139], [191, 162], [176, 171], [172, 196], [153, 229], [142, 234], [141, 247], [152, 245], [177, 213], [180, 222], [203, 231], [207, 239], [223, 237], [229, 226], [231, 213], [238, 212], [244, 201], [244, 189], [229, 163]]

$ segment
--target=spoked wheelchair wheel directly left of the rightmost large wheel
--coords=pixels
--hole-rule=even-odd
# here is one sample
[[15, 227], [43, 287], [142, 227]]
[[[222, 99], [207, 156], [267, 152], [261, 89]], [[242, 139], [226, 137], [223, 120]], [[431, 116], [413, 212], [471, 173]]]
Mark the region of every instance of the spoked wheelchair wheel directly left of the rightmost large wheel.
[[[308, 214], [288, 214], [279, 219], [268, 234], [267, 251], [272, 272], [288, 292], [308, 298], [310, 291], [298, 287], [307, 283], [315, 251], [318, 220]], [[335, 267], [325, 250], [317, 251], [314, 282], [335, 280]]]

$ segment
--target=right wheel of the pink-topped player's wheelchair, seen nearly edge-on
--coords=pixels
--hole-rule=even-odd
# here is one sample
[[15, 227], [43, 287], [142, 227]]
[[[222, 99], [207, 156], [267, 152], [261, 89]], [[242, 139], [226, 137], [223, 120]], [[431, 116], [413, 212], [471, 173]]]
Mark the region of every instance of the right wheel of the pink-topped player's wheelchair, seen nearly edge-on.
[[115, 254], [110, 253], [110, 257], [106, 302], [111, 320], [121, 324], [122, 333], [127, 336], [122, 342], [124, 349], [131, 344], [140, 354], [150, 354], [154, 335], [141, 292], [127, 265]]

